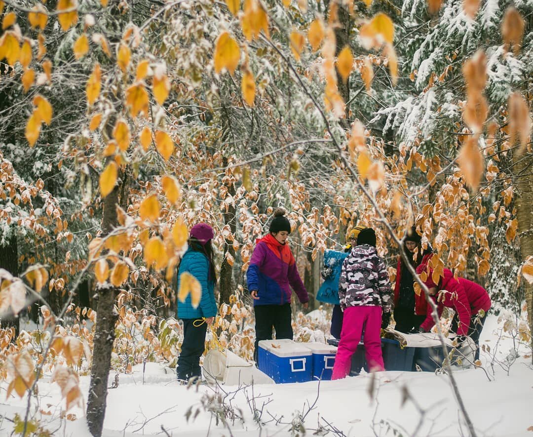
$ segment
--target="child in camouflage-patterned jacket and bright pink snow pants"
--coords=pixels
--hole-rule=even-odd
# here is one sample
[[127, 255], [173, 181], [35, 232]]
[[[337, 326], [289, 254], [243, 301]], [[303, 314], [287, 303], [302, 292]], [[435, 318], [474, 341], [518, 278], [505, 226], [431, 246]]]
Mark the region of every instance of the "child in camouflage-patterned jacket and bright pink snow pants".
[[337, 348], [332, 379], [350, 373], [351, 359], [365, 329], [365, 356], [370, 371], [383, 371], [382, 327], [389, 325], [392, 290], [385, 263], [376, 251], [376, 233], [363, 229], [342, 265], [338, 296], [344, 312], [341, 340]]

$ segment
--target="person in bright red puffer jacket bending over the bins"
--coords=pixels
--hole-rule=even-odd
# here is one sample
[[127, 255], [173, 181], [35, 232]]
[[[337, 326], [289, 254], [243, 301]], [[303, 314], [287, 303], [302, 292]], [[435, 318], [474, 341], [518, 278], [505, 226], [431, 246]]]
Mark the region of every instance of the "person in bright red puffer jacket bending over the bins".
[[[475, 282], [463, 277], [455, 279], [454, 274], [447, 268], [443, 269], [443, 276], [439, 283], [435, 284], [431, 279], [433, 269], [431, 267], [428, 269], [427, 265], [429, 258], [424, 258], [425, 263], [416, 268], [416, 273], [419, 275], [422, 272], [427, 272], [427, 279], [424, 283], [433, 300], [439, 295], [437, 298], [439, 317], [445, 306], [455, 310], [450, 330], [456, 332], [460, 337], [469, 336], [474, 340], [476, 346], [474, 360], [479, 360], [479, 336], [491, 305], [489, 294], [487, 290]], [[421, 332], [429, 332], [433, 328], [435, 321], [431, 313], [431, 306], [428, 305], [426, 320], [420, 325]]]

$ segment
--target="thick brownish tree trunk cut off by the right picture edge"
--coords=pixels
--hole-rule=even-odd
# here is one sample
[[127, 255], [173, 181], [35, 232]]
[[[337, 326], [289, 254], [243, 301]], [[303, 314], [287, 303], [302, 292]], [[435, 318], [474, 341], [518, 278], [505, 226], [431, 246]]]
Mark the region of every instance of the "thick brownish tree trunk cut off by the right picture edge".
[[[518, 236], [520, 237], [520, 253], [522, 261], [533, 255], [533, 216], [531, 205], [533, 204], [533, 175], [530, 173], [532, 156], [519, 156], [512, 167], [514, 183], [518, 189], [516, 199], [516, 218], [518, 218]], [[526, 304], [528, 308], [529, 330], [533, 334], [533, 285], [525, 281]], [[531, 336], [531, 347], [533, 347], [533, 336]], [[533, 363], [533, 357], [531, 358]]]

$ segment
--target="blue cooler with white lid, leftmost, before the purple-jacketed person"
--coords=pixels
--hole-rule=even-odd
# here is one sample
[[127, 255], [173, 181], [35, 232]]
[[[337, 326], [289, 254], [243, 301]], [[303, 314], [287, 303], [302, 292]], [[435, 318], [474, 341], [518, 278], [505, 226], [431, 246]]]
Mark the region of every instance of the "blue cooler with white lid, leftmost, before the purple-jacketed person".
[[304, 383], [311, 380], [312, 352], [293, 340], [261, 340], [257, 353], [259, 370], [276, 384]]

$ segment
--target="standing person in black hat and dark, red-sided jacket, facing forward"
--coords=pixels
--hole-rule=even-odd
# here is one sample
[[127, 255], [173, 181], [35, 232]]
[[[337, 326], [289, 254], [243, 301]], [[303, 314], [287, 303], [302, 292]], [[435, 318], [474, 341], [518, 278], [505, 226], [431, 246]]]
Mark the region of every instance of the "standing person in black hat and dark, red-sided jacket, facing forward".
[[[415, 270], [421, 264], [423, 257], [432, 251], [429, 245], [427, 249], [422, 249], [421, 237], [417, 234], [415, 226], [407, 229], [403, 249]], [[425, 299], [416, 299], [413, 275], [400, 256], [394, 286], [394, 321], [396, 322], [394, 329], [405, 333], [418, 332], [420, 324], [426, 318], [426, 305]]]

